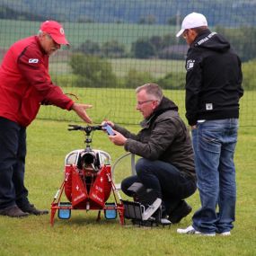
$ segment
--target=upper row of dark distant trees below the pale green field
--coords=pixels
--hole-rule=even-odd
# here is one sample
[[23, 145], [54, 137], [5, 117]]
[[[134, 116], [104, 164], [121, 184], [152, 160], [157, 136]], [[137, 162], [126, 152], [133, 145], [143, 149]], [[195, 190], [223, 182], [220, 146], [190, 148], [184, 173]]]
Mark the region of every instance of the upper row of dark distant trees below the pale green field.
[[[248, 61], [256, 56], [256, 28], [227, 29], [216, 27], [216, 32], [221, 33], [230, 41], [238, 55], [243, 61]], [[135, 58], [158, 58], [158, 59], [184, 59], [188, 50], [186, 42], [177, 40], [175, 35], [166, 34], [138, 38], [128, 49], [117, 40], [110, 40], [102, 43], [86, 40], [75, 52], [82, 52], [85, 55], [98, 57], [135, 57]]]

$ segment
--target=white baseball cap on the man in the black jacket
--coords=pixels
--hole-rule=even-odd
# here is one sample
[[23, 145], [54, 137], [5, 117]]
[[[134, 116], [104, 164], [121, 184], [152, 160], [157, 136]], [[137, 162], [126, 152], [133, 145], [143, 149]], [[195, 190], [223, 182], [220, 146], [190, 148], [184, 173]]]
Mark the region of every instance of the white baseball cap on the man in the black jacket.
[[184, 18], [181, 24], [181, 31], [176, 34], [176, 37], [179, 38], [185, 30], [202, 26], [207, 26], [207, 18], [201, 13], [190, 13]]

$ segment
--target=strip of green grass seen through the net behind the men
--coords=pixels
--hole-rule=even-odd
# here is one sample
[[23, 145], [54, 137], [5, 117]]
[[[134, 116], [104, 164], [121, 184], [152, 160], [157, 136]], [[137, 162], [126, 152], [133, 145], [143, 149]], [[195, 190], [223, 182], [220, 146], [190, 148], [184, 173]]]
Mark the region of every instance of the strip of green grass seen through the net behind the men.
[[[63, 87], [64, 93], [75, 93], [79, 102], [93, 104], [88, 114], [95, 123], [111, 119], [125, 124], [137, 124], [141, 115], [136, 110], [135, 90], [120, 88], [77, 88]], [[164, 90], [163, 93], [179, 106], [180, 115], [185, 119], [185, 96], [182, 90]], [[245, 92], [241, 100], [240, 125], [256, 126], [256, 92]], [[51, 106], [40, 108], [40, 119], [79, 121], [74, 112], [59, 110]]]

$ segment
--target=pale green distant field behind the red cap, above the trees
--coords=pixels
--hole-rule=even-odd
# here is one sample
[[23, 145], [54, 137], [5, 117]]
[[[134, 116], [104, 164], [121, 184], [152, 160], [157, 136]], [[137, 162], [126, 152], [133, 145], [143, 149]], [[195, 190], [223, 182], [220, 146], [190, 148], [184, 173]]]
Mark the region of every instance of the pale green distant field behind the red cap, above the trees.
[[[72, 47], [86, 40], [100, 44], [118, 40], [129, 48], [140, 37], [175, 34], [175, 26], [168, 25], [63, 22], [63, 26]], [[0, 46], [8, 48], [16, 40], [36, 34], [39, 28], [40, 22], [0, 20]]]

